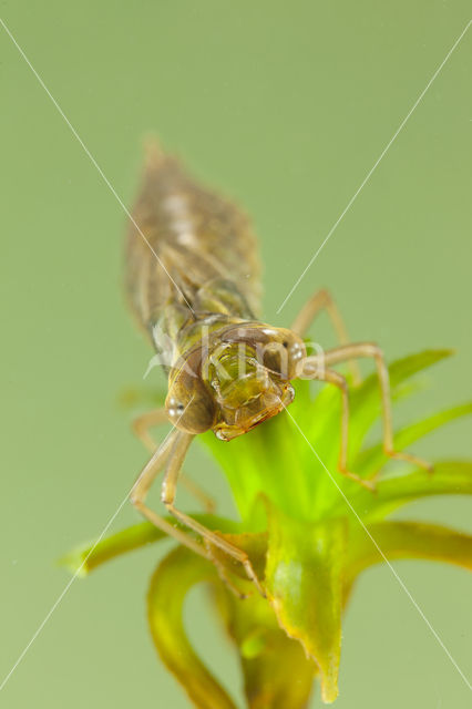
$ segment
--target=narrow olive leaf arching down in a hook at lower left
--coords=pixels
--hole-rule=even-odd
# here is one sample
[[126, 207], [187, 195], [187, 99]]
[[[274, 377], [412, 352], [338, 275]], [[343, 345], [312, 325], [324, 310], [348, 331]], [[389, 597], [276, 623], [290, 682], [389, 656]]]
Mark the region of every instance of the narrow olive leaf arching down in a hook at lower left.
[[164, 665], [198, 709], [236, 709], [236, 705], [201, 661], [183, 623], [187, 592], [202, 582], [215, 582], [213, 565], [182, 546], [155, 571], [147, 594], [151, 634]]

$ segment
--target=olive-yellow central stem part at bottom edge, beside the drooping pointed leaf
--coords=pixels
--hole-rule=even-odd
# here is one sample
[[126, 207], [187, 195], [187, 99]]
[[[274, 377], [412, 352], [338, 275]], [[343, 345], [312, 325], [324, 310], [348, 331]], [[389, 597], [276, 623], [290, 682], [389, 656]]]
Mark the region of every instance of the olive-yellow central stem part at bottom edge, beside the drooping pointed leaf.
[[300, 643], [279, 628], [267, 600], [255, 593], [240, 600], [223, 586], [217, 588], [217, 600], [239, 653], [248, 707], [304, 709], [315, 662], [306, 657]]

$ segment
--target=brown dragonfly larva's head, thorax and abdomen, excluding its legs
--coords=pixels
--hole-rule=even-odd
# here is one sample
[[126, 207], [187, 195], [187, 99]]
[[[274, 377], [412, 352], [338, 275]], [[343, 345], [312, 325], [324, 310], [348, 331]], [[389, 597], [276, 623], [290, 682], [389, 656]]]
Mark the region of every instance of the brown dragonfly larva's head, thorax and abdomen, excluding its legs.
[[[163, 338], [173, 345], [163, 362], [171, 421], [229, 440], [281, 411], [294, 398], [289, 368], [306, 352], [293, 332], [256, 320], [259, 266], [247, 218], [154, 147], [134, 219], [127, 291], [157, 351]], [[267, 348], [277, 342], [287, 350], [284, 372]]]

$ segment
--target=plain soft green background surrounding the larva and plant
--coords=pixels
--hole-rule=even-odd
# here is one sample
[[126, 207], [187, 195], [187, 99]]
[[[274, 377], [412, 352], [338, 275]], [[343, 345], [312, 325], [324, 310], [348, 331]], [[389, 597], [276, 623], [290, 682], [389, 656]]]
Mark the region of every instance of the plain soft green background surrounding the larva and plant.
[[[316, 287], [328, 286], [352, 337], [379, 341], [389, 358], [458, 348], [434, 370], [434, 388], [397, 421], [471, 398], [472, 29], [275, 315], [464, 29], [469, 2], [16, 0], [0, 8], [125, 204], [142, 137], [156, 131], [252, 214], [267, 320], [288, 325]], [[69, 580], [54, 559], [100, 534], [145, 461], [119, 397], [142, 384], [151, 350], [121, 289], [125, 215], [2, 29], [0, 79], [3, 676]], [[325, 321], [317, 338], [334, 341]], [[415, 450], [471, 456], [470, 421]], [[205, 453], [193, 451], [191, 466], [230, 510]], [[468, 528], [470, 502], [428, 501], [404, 516]], [[135, 520], [125, 504], [113, 528]], [[75, 582], [11, 676], [2, 706], [187, 707], [145, 624], [160, 554], [147, 548]], [[412, 562], [397, 569], [470, 677], [465, 572]], [[195, 644], [240, 696], [233, 650], [201, 592], [187, 614]], [[388, 568], [358, 585], [340, 691], [339, 709], [470, 706]]]

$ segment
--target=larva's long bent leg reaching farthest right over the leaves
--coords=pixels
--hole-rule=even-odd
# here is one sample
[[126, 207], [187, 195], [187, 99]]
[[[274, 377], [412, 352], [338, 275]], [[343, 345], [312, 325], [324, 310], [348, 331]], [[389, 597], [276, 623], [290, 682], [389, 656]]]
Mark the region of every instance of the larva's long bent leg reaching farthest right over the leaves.
[[[386, 455], [392, 459], [408, 461], [414, 463], [419, 467], [431, 471], [432, 466], [421, 458], [417, 458], [411, 453], [404, 453], [402, 451], [396, 451], [393, 448], [393, 428], [392, 428], [392, 414], [391, 414], [391, 401], [390, 401], [390, 378], [387, 369], [383, 352], [374, 342], [356, 342], [352, 345], [345, 345], [337, 347], [332, 350], [328, 350], [324, 354], [325, 364], [338, 364], [353, 358], [369, 357], [376, 362], [377, 372], [379, 376], [380, 395], [382, 403], [382, 421], [383, 421], [383, 451]], [[310, 358], [307, 358], [307, 363]], [[316, 358], [314, 358], [316, 359]]]

